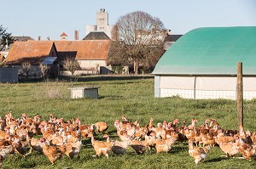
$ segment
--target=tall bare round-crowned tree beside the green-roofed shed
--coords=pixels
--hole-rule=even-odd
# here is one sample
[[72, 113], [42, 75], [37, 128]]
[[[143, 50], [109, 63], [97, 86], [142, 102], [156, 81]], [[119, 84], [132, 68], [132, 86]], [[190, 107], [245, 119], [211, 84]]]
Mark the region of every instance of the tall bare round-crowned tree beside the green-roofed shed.
[[163, 54], [164, 25], [160, 19], [137, 11], [121, 16], [112, 31], [113, 41], [109, 63], [133, 63], [135, 74], [139, 65], [154, 65]]

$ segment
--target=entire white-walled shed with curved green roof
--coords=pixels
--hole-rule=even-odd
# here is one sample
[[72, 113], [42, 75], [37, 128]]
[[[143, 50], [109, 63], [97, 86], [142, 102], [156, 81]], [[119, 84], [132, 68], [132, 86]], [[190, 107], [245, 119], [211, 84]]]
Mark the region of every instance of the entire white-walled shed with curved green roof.
[[154, 97], [236, 99], [237, 63], [242, 63], [243, 98], [256, 98], [256, 26], [189, 31], [154, 68]]

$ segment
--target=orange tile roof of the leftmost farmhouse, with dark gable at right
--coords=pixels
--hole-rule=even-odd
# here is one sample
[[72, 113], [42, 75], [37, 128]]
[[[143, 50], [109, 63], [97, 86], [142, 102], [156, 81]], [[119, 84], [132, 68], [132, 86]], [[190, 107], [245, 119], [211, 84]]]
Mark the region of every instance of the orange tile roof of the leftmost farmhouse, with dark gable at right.
[[32, 65], [38, 64], [49, 56], [53, 45], [50, 41], [15, 42], [5, 61], [9, 65], [21, 65], [26, 61]]

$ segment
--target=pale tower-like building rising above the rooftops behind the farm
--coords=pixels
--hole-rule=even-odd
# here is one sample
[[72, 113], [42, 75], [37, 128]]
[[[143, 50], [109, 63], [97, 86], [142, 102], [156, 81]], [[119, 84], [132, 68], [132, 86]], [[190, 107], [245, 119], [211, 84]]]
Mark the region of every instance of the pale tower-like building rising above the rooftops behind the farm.
[[113, 25], [108, 25], [108, 12], [105, 8], [100, 8], [100, 11], [96, 13], [96, 25], [86, 25], [85, 37], [90, 32], [104, 32], [110, 39], [112, 39], [111, 31]]

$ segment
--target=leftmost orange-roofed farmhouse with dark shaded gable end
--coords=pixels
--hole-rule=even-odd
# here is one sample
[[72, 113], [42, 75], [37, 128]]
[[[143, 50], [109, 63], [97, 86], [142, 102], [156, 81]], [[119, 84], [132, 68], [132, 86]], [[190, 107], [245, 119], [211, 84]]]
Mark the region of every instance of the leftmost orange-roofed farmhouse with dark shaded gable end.
[[49, 65], [50, 72], [54, 75], [58, 74], [57, 51], [55, 43], [49, 41], [26, 41], [15, 42], [5, 59], [7, 65], [17, 67], [19, 73], [23, 72], [22, 64], [31, 64], [30, 76], [40, 76], [40, 64]]

